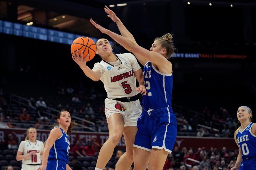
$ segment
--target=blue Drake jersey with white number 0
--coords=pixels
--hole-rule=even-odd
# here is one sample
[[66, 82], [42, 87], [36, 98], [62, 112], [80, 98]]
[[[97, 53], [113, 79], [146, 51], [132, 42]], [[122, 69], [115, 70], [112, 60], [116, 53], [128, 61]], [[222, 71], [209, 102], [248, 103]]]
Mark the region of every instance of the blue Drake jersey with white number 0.
[[243, 160], [256, 158], [256, 135], [251, 132], [253, 124], [251, 122], [242, 132], [239, 130], [237, 133], [237, 142], [242, 151]]

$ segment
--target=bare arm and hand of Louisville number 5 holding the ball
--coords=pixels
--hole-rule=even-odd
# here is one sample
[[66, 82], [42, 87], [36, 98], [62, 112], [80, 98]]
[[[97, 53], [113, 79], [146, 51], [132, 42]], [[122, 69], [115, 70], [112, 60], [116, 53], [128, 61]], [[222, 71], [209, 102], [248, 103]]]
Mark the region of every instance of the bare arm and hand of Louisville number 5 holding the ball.
[[86, 65], [86, 58], [89, 56], [89, 54], [83, 58], [83, 51], [81, 51], [81, 56], [79, 56], [78, 50], [77, 55], [75, 55], [75, 52], [73, 51], [73, 60], [79, 65], [79, 67], [83, 70], [83, 73], [93, 81], [98, 81], [101, 78], [101, 72], [97, 70], [91, 70], [90, 67]]

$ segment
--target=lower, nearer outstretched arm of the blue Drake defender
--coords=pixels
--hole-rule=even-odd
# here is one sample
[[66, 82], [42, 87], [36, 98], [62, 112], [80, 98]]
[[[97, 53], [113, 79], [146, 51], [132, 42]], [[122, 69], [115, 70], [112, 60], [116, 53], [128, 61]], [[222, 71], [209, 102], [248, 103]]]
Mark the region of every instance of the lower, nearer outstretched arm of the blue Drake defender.
[[160, 53], [156, 53], [153, 51], [149, 51], [141, 46], [139, 46], [136, 42], [127, 39], [121, 35], [118, 35], [106, 28], [103, 28], [101, 25], [96, 24], [92, 19], [90, 19], [90, 22], [98, 28], [102, 33], [105, 33], [109, 35], [112, 39], [114, 39], [118, 44], [122, 45], [123, 48], [128, 50], [129, 52], [132, 52], [136, 57], [141, 56], [146, 61], [151, 61], [157, 67], [161, 67], [162, 73], [171, 74], [172, 71], [172, 65], [171, 63]]

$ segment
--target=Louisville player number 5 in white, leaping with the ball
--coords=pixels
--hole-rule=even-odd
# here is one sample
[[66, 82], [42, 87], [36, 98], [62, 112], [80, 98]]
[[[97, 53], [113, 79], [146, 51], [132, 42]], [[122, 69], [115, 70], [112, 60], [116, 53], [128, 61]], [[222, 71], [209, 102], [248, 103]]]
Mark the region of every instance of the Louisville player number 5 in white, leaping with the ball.
[[[122, 135], [125, 138], [126, 152], [118, 160], [116, 170], [128, 170], [133, 163], [133, 143], [137, 132], [137, 120], [142, 112], [138, 100], [138, 91], [146, 94], [141, 67], [133, 54], [113, 54], [107, 39], [96, 42], [97, 54], [102, 61], [95, 63], [91, 70], [86, 66], [86, 58], [73, 52], [73, 60], [85, 75], [94, 81], [101, 80], [107, 92], [105, 114], [109, 127], [109, 138], [102, 146], [96, 170], [103, 169], [111, 158], [115, 146]], [[136, 87], [136, 79], [139, 87]], [[118, 114], [116, 114], [118, 113]]]

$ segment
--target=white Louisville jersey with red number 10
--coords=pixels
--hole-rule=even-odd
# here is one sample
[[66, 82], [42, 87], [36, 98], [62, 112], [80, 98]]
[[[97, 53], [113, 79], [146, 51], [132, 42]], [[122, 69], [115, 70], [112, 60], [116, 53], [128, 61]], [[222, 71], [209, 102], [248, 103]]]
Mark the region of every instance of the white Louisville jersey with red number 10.
[[23, 152], [23, 155], [28, 154], [29, 152], [36, 151], [36, 155], [31, 155], [26, 159], [22, 160], [22, 164], [40, 164], [41, 158], [40, 154], [43, 151], [43, 142], [36, 140], [36, 142], [30, 142], [29, 140], [22, 141], [19, 144], [18, 151]]

